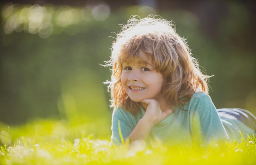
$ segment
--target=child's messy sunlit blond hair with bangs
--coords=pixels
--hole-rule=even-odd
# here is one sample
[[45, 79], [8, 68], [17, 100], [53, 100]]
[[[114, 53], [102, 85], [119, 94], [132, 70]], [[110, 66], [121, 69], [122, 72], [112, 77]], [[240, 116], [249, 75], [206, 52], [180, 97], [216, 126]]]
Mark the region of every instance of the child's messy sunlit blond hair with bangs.
[[[143, 53], [139, 53], [139, 52]], [[196, 59], [185, 40], [175, 31], [171, 21], [149, 15], [139, 18], [133, 15], [127, 24], [117, 33], [112, 45], [110, 60], [106, 66], [112, 67], [111, 81], [107, 81], [111, 90], [111, 106], [122, 106], [136, 115], [140, 103], [132, 101], [121, 84], [122, 63], [141, 61], [145, 54], [154, 64], [155, 70], [164, 77], [162, 94], [172, 108], [188, 102], [196, 91], [208, 93], [207, 79], [199, 69]]]

